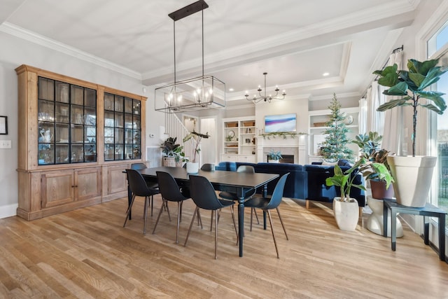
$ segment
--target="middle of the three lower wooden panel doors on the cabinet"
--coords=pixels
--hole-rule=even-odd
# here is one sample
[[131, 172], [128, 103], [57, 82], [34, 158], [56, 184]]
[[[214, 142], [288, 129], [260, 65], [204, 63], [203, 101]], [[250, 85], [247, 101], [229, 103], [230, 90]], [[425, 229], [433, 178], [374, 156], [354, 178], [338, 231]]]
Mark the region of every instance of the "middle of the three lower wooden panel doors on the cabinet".
[[76, 200], [88, 200], [101, 195], [102, 179], [99, 167], [76, 171]]

